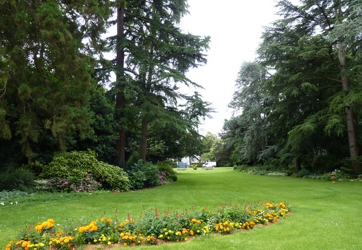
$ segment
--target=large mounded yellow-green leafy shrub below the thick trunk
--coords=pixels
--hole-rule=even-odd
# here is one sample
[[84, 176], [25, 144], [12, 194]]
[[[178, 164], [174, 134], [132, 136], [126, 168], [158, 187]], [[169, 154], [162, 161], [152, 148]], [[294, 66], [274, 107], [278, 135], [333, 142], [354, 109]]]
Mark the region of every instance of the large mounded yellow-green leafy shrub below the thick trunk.
[[43, 167], [42, 177], [46, 178], [86, 178], [91, 173], [95, 180], [104, 187], [119, 191], [129, 190], [127, 174], [118, 166], [99, 162], [95, 153], [88, 151], [72, 151], [58, 153], [50, 164]]

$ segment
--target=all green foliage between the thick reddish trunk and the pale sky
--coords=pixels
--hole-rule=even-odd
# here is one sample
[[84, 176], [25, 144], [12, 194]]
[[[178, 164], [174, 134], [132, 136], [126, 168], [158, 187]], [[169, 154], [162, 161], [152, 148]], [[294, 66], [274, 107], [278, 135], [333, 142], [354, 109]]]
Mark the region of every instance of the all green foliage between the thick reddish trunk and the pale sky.
[[[197, 86], [186, 72], [206, 63], [203, 53], [210, 42], [210, 37], [183, 33], [178, 28], [186, 13], [186, 1], [127, 1], [124, 22], [117, 23], [118, 28], [127, 27], [127, 32], [118, 34], [122, 39], [112, 38], [111, 46], [118, 51], [113, 68], [118, 76], [113, 84], [118, 93], [117, 109], [124, 106], [120, 118], [138, 135], [135, 141], [143, 160], [184, 157], [187, 142], [192, 145], [187, 154], [194, 154], [199, 149], [198, 120], [212, 111], [198, 93], [180, 93], [180, 84]], [[186, 104], [180, 105], [178, 100]]]

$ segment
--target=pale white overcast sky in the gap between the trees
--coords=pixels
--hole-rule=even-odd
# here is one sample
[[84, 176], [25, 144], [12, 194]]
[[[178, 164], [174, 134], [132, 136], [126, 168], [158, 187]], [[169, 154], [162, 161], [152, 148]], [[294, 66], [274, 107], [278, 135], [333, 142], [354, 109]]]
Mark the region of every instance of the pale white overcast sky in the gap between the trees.
[[[187, 77], [205, 88], [203, 100], [212, 102], [217, 113], [200, 125], [200, 134], [221, 132], [232, 110], [235, 79], [244, 61], [255, 59], [263, 26], [278, 19], [274, 0], [188, 0], [189, 15], [180, 28], [197, 36], [211, 36], [207, 65], [191, 70]], [[193, 91], [193, 90], [190, 90]]]

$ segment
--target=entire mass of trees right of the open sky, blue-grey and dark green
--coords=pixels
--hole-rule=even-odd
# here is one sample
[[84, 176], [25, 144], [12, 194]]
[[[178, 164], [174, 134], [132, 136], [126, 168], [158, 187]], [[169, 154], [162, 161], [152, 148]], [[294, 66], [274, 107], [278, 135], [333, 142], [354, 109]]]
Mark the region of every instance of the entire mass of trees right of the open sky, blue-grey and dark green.
[[[226, 123], [225, 147], [233, 148], [239, 162], [278, 159], [294, 162], [296, 169], [325, 171], [346, 157], [357, 159], [360, 1], [278, 1], [277, 6], [281, 19], [265, 28], [258, 61], [239, 72], [231, 106], [242, 114], [234, 118], [236, 127]], [[360, 171], [357, 162], [352, 170]]]

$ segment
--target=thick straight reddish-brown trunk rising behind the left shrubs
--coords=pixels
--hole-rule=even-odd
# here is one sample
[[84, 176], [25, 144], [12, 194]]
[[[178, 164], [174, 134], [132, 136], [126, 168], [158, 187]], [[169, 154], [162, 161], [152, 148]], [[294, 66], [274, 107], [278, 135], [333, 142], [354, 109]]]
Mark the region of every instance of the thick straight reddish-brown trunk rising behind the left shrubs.
[[[125, 36], [125, 4], [121, 3], [121, 6], [117, 9], [117, 44], [116, 44], [116, 88], [118, 90], [116, 95], [116, 110], [120, 110], [119, 114], [124, 114], [123, 109], [125, 107], [125, 93], [123, 91], [123, 82], [125, 77], [125, 51], [122, 44], [122, 40]], [[120, 130], [118, 132], [118, 165], [125, 166], [125, 125], [120, 122]]]

